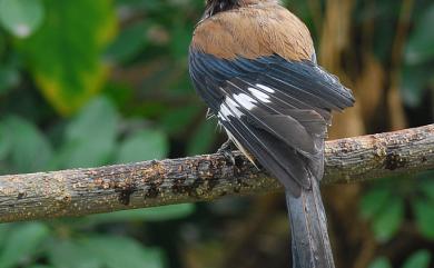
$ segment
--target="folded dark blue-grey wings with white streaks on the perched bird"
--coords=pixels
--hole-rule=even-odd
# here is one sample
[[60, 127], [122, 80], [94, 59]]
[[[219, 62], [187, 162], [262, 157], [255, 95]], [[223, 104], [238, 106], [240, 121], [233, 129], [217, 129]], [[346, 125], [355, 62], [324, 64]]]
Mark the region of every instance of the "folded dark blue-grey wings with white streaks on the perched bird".
[[278, 56], [225, 60], [190, 50], [190, 76], [229, 137], [298, 196], [323, 176], [332, 110], [353, 106], [352, 92], [312, 61]]

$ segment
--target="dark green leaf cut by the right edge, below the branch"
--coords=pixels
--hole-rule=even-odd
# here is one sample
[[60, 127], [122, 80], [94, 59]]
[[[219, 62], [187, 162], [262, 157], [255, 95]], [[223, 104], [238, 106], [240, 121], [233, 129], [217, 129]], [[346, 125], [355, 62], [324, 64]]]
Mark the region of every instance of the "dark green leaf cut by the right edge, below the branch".
[[434, 202], [416, 200], [413, 202], [413, 209], [422, 235], [428, 239], [434, 239]]

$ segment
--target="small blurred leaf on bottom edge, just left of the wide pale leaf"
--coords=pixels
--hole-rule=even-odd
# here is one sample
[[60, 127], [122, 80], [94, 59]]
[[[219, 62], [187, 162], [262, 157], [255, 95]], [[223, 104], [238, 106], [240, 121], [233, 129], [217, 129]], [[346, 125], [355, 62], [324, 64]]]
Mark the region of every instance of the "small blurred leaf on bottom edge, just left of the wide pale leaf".
[[48, 250], [50, 264], [58, 268], [102, 267], [103, 261], [73, 240], [53, 240]]

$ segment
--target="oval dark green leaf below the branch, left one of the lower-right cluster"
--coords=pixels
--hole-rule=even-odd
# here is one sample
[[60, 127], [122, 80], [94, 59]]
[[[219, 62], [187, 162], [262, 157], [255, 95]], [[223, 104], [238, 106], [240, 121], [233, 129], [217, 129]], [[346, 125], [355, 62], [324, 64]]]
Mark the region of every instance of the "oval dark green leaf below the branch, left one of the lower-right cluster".
[[373, 218], [373, 231], [381, 242], [388, 241], [400, 229], [404, 220], [404, 202], [398, 197], [392, 198], [384, 209]]

